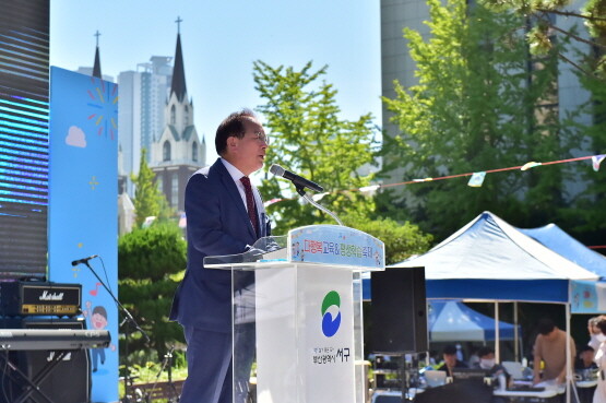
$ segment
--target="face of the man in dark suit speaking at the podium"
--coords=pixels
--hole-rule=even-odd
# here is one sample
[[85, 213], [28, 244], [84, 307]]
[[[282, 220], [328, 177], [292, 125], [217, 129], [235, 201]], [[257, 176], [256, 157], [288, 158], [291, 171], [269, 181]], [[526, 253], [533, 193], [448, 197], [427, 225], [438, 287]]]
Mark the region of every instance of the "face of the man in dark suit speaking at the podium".
[[233, 157], [233, 164], [242, 174], [250, 175], [263, 167], [265, 162], [265, 130], [253, 118], [243, 120], [245, 135], [241, 139], [231, 137], [227, 139], [227, 146]]

